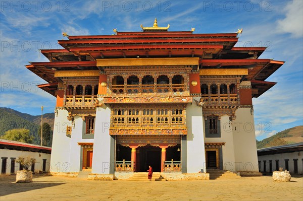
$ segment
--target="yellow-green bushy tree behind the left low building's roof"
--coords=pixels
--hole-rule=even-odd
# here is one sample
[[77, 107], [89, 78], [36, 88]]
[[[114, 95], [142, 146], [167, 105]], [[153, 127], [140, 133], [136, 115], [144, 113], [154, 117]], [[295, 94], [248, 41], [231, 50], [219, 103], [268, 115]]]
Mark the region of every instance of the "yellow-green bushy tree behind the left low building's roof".
[[34, 137], [29, 135], [29, 129], [25, 128], [8, 130], [1, 138], [5, 140], [12, 140], [29, 144], [31, 144], [34, 140]]

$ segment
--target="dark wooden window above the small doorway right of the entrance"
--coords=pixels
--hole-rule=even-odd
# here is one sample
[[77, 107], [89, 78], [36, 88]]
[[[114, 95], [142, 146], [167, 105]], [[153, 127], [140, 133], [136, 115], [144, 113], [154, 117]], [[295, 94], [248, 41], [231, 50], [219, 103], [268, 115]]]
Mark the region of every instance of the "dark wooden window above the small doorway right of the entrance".
[[205, 133], [207, 138], [220, 138], [220, 120], [218, 116], [212, 115], [207, 117], [205, 122]]

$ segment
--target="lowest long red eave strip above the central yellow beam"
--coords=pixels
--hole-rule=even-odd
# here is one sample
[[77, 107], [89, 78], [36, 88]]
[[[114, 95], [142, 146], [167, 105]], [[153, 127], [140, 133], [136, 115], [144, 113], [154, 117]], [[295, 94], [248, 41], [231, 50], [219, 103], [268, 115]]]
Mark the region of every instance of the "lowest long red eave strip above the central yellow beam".
[[137, 45], [110, 45], [110, 46], [99, 46], [99, 47], [71, 47], [71, 51], [98, 51], [98, 50], [121, 50], [121, 49], [223, 49], [223, 45], [188, 45], [188, 44], [155, 44], [155, 45], [147, 45], [147, 44], [137, 44]]

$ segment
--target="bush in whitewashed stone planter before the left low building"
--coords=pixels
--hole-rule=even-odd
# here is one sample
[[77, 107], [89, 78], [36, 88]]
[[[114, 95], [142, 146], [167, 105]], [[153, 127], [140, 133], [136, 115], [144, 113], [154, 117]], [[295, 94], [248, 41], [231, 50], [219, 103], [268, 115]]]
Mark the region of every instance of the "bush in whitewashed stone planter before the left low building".
[[19, 157], [16, 160], [17, 163], [20, 163], [23, 167], [23, 170], [17, 171], [16, 175], [16, 182], [23, 183], [23, 182], [32, 182], [33, 181], [33, 172], [28, 170], [33, 164], [35, 164], [36, 160], [30, 158], [29, 156], [26, 157]]

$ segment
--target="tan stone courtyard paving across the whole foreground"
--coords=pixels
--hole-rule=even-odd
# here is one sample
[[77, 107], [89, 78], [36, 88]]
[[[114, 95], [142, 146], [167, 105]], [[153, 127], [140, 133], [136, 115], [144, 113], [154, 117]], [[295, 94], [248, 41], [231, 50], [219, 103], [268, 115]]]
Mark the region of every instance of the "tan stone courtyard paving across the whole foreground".
[[0, 177], [0, 200], [303, 200], [303, 178], [271, 176], [199, 181], [94, 181], [34, 175], [32, 183]]

